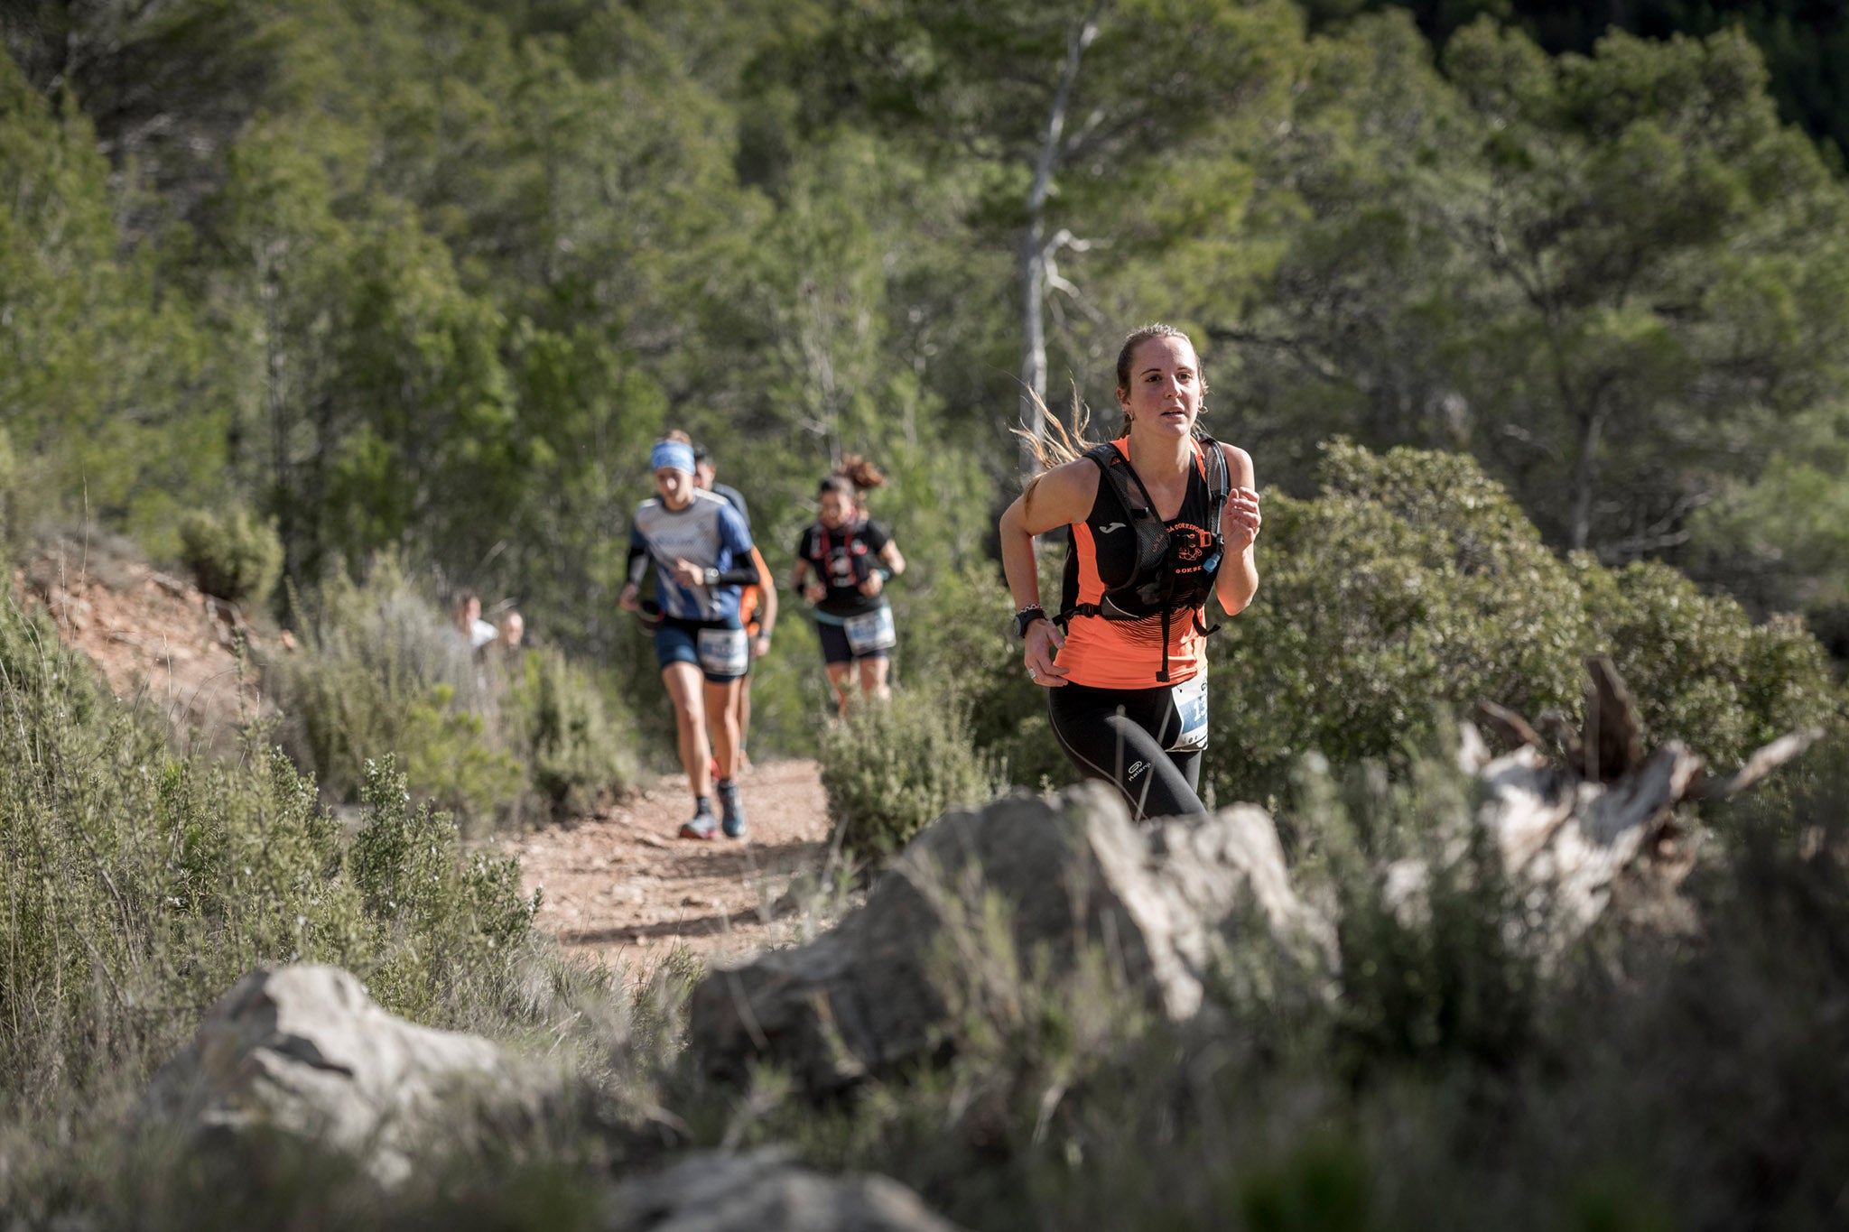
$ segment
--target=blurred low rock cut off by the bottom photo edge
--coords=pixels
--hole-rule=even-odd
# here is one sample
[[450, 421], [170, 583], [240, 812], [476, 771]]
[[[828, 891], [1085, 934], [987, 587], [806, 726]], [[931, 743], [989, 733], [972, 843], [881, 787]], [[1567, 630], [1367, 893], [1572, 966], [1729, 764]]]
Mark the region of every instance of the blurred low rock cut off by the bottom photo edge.
[[610, 1232], [956, 1232], [886, 1177], [823, 1177], [782, 1151], [695, 1154], [614, 1191]]

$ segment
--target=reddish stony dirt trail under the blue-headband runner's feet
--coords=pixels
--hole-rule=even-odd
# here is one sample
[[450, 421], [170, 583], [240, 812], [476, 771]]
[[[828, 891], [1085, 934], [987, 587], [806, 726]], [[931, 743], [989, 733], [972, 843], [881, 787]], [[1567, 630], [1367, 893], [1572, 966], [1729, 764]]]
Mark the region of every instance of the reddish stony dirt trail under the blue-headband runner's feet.
[[605, 811], [501, 840], [527, 890], [544, 888], [538, 925], [571, 953], [647, 970], [675, 946], [708, 964], [802, 940], [814, 920], [778, 907], [799, 872], [827, 861], [828, 815], [814, 761], [777, 761], [740, 779], [751, 837], [677, 839], [692, 815], [675, 776]]

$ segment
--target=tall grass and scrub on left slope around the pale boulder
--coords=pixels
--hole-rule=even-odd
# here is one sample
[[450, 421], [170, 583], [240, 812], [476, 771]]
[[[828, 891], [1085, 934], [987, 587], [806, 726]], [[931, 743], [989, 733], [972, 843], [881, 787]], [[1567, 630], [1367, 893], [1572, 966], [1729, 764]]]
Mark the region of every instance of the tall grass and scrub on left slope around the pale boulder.
[[[521, 1226], [490, 1193], [533, 1195], [542, 1178], [569, 1184], [538, 1210], [594, 1210], [612, 1153], [658, 1151], [673, 1132], [655, 1110], [693, 972], [625, 992], [616, 972], [560, 960], [533, 931], [538, 900], [518, 864], [470, 852], [390, 757], [364, 768], [359, 816], [342, 824], [264, 735], [231, 759], [176, 755], [159, 717], [116, 702], [46, 624], [0, 608], [9, 1225], [309, 1226], [320, 1214], [405, 1226], [460, 1217], [473, 1199]], [[584, 1095], [470, 1158], [435, 1158], [396, 1197], [305, 1147], [227, 1188], [172, 1143], [122, 1138], [205, 1010], [246, 972], [296, 960], [355, 972], [396, 1014], [562, 1053]]]

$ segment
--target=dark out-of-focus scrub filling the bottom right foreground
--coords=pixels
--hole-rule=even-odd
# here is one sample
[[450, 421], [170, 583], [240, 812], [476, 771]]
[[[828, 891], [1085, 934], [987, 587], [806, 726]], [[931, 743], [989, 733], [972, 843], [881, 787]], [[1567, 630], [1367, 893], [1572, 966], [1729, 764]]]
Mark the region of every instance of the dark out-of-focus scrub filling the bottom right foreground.
[[971, 1228], [1829, 1226], [1849, 744], [1786, 774], [1716, 815], [1697, 944], [1601, 927], [1542, 960], [1496, 853], [1453, 850], [1411, 916], [1381, 877], [1470, 807], [1451, 761], [1309, 770], [1281, 820], [1324, 853], [1300, 894], [1342, 907], [1333, 973], [1230, 929], [1206, 1012], [1169, 1023], [1108, 948], [1048, 979], [986, 911], [945, 946], [945, 1064], [823, 1108], [758, 1075], [740, 1140]]

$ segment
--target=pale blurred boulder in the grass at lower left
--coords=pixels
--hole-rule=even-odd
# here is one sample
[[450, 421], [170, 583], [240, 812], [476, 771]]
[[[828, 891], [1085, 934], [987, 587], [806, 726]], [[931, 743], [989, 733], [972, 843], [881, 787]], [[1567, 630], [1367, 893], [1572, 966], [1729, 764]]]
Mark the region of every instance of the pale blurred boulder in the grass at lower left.
[[466, 1130], [460, 1108], [527, 1119], [555, 1086], [488, 1040], [394, 1018], [340, 968], [287, 966], [231, 986], [155, 1075], [137, 1123], [214, 1149], [281, 1130], [394, 1184], [416, 1147]]

